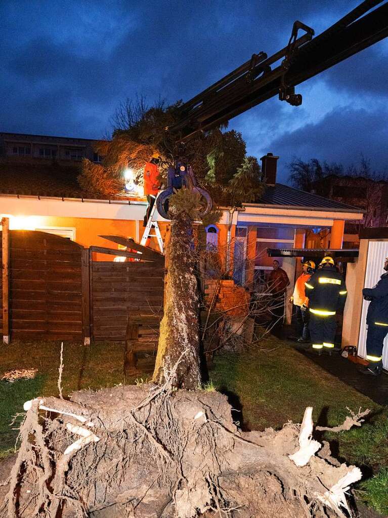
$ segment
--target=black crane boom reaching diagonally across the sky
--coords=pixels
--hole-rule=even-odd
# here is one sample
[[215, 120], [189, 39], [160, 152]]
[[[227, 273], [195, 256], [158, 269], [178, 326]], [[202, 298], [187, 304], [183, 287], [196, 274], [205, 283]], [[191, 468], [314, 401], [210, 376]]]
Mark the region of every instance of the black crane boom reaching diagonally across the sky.
[[[300, 30], [305, 34], [298, 37]], [[287, 47], [270, 57], [265, 52], [253, 54], [246, 63], [184, 103], [178, 111], [178, 121], [168, 131], [177, 141], [185, 142], [275, 95], [299, 106], [302, 96], [295, 94], [296, 85], [386, 36], [388, 2], [383, 0], [365, 0], [316, 38], [314, 30], [296, 21]]]

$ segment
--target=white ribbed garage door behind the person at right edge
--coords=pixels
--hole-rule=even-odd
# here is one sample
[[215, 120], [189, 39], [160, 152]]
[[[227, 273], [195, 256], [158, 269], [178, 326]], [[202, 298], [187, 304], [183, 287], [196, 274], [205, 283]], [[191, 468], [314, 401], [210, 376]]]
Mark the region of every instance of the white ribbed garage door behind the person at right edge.
[[[368, 246], [368, 260], [365, 274], [365, 288], [374, 287], [380, 276], [384, 273], [383, 265], [384, 259], [388, 257], [388, 241], [369, 241]], [[361, 328], [359, 338], [359, 356], [366, 357], [366, 312], [368, 310], [369, 301], [363, 301], [363, 308], [361, 312]], [[388, 369], [388, 336], [384, 340], [385, 347], [383, 349], [383, 366]]]

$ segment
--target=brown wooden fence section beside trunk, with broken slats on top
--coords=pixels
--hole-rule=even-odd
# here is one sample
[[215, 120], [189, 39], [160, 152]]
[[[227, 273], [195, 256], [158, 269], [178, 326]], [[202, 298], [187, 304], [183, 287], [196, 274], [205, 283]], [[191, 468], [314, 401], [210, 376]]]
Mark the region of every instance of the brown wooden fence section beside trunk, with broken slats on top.
[[[106, 236], [118, 242], [118, 236]], [[91, 336], [94, 340], [126, 340], [128, 327], [137, 348], [156, 350], [159, 323], [163, 315], [165, 258], [132, 242], [128, 248], [142, 251], [113, 251], [132, 262], [90, 261]], [[93, 252], [112, 253], [91, 247]]]

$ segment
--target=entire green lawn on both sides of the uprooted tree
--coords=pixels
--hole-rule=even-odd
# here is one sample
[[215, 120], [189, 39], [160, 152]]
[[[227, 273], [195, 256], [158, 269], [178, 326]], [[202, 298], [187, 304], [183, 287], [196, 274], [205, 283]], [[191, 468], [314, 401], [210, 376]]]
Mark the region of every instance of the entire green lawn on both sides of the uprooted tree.
[[[265, 352], [267, 349], [273, 349]], [[23, 411], [23, 402], [38, 395], [58, 395], [60, 343], [12, 343], [0, 348], [0, 378], [7, 370], [37, 368], [34, 380], [9, 384], [0, 381], [0, 457], [12, 449], [17, 430], [12, 416]], [[139, 378], [146, 378], [146, 373]], [[236, 412], [234, 419], [248, 429], [279, 428], [288, 420], [301, 422], [306, 406], [314, 407], [316, 424], [335, 426], [353, 411], [369, 408], [370, 419], [361, 427], [339, 434], [325, 434], [336, 456], [363, 467], [369, 479], [360, 484], [359, 497], [388, 515], [388, 410], [323, 371], [287, 343], [270, 337], [249, 355], [220, 356], [210, 372], [220, 392], [227, 393]], [[127, 379], [134, 383], [135, 378]], [[388, 380], [387, 380], [388, 382]], [[96, 343], [91, 347], [64, 344], [63, 394], [80, 389], [125, 383], [124, 346]], [[20, 421], [20, 416], [16, 420]], [[13, 425], [13, 428], [15, 425]], [[371, 474], [375, 474], [371, 477]]]

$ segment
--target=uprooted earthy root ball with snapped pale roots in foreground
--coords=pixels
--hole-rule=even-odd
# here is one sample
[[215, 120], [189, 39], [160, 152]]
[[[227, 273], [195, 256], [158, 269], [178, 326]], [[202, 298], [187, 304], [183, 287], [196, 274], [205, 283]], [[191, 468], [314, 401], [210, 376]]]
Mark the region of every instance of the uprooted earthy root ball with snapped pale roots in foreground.
[[297, 467], [300, 425], [241, 433], [219, 393], [144, 384], [29, 406], [1, 516], [348, 516], [329, 490], [350, 468], [327, 453]]

